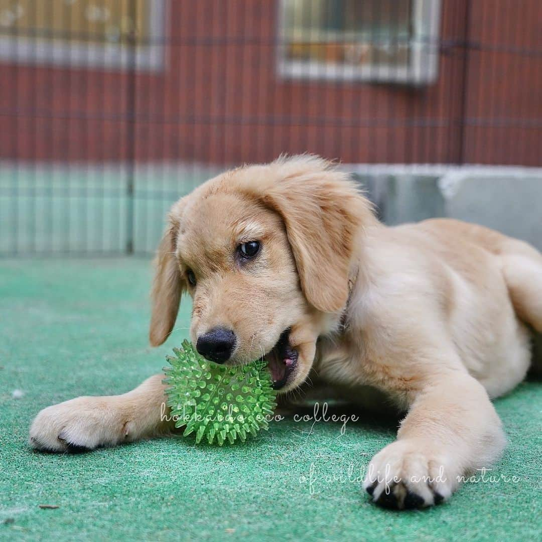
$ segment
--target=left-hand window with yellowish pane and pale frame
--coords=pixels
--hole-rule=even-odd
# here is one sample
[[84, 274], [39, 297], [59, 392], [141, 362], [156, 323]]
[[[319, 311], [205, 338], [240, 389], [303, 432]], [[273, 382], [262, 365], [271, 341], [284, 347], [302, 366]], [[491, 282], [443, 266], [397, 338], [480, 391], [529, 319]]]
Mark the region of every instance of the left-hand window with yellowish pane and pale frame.
[[164, 0], [0, 0], [0, 59], [163, 67]]

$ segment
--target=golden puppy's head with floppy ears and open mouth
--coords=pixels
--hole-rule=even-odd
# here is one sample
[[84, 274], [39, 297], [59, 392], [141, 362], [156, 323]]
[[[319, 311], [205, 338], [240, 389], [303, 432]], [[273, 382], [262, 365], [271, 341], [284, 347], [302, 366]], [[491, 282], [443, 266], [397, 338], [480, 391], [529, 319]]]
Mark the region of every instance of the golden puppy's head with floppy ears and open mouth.
[[217, 363], [265, 357], [275, 388], [295, 388], [319, 335], [340, 320], [359, 235], [373, 220], [354, 183], [318, 157], [280, 158], [209, 180], [170, 211], [151, 344], [171, 333], [188, 291], [200, 353]]

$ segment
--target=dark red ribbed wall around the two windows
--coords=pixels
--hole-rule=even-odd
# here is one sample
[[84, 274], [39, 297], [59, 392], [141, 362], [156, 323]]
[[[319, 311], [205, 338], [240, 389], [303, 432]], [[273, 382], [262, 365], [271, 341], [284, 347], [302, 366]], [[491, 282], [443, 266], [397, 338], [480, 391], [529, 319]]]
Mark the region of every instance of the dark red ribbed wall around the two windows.
[[443, 0], [438, 81], [419, 88], [282, 80], [277, 13], [170, 2], [163, 72], [0, 64], [0, 157], [541, 165], [539, 0]]

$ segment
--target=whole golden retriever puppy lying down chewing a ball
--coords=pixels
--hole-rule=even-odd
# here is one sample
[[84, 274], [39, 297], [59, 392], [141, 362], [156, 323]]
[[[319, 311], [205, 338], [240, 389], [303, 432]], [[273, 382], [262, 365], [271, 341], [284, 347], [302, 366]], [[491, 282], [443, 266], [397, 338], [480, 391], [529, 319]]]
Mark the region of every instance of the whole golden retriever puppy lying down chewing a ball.
[[[542, 332], [537, 250], [453, 220], [386, 227], [349, 176], [314, 156], [240, 167], [173, 205], [151, 344], [171, 333], [183, 292], [208, 359], [264, 357], [281, 393], [310, 372], [344, 397], [379, 409], [384, 396], [406, 412], [364, 482], [398, 508], [448, 499], [498, 457], [505, 437], [490, 398], [524, 378]], [[162, 378], [42, 410], [31, 445], [92, 449], [167, 429]]]

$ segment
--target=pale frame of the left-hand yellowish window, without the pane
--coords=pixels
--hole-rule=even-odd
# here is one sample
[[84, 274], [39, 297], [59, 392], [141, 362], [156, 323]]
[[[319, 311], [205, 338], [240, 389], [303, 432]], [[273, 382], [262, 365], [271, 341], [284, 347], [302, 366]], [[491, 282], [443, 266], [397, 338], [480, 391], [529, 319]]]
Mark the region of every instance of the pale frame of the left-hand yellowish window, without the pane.
[[[40, 37], [0, 36], [0, 61], [32, 65], [48, 64], [68, 68], [137, 69], [158, 71], [165, 68], [166, 0], [148, 3], [149, 43], [134, 49], [120, 43], [78, 43], [69, 38], [62, 42]], [[163, 44], [160, 44], [163, 41]]]

